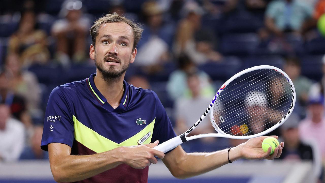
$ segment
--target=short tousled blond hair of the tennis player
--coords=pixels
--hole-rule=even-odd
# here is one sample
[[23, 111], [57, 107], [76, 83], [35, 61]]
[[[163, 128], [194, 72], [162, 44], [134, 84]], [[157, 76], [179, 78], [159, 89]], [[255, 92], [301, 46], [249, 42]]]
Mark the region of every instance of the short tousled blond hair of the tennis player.
[[93, 40], [93, 46], [95, 47], [96, 37], [98, 36], [98, 31], [101, 25], [105, 23], [112, 23], [112, 22], [124, 22], [131, 26], [134, 36], [133, 41], [133, 49], [136, 49], [136, 45], [138, 44], [143, 29], [138, 23], [135, 23], [125, 17], [119, 16], [117, 13], [107, 14], [105, 16], [100, 17], [94, 22], [94, 25], [90, 28], [90, 35]]

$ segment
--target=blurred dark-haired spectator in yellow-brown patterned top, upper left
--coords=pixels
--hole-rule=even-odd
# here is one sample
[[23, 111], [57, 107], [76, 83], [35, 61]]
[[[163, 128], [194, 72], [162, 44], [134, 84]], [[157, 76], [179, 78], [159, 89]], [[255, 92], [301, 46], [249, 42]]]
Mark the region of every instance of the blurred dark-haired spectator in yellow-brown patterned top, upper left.
[[50, 58], [47, 36], [36, 26], [36, 15], [28, 10], [21, 14], [18, 31], [9, 39], [8, 53], [18, 54], [24, 67], [45, 64]]

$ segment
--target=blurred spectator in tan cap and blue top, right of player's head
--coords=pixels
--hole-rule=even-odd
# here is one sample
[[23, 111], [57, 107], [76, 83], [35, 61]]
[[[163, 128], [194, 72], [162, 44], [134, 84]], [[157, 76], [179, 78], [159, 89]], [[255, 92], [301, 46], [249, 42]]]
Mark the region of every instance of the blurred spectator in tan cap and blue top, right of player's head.
[[137, 65], [149, 66], [148, 69], [161, 67], [168, 61], [168, 43], [171, 44], [174, 28], [163, 21], [163, 11], [155, 1], [147, 1], [142, 5], [145, 17], [142, 38], [136, 54]]

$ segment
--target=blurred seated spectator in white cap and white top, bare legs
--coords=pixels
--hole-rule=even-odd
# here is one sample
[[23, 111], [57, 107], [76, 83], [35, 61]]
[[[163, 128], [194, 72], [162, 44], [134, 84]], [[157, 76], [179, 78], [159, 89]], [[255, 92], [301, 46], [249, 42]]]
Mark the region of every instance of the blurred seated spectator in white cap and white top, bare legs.
[[77, 63], [82, 62], [90, 27], [90, 20], [83, 16], [82, 2], [64, 1], [60, 16], [63, 18], [55, 21], [52, 26], [52, 34], [57, 39], [56, 57], [64, 66], [68, 66], [71, 59]]

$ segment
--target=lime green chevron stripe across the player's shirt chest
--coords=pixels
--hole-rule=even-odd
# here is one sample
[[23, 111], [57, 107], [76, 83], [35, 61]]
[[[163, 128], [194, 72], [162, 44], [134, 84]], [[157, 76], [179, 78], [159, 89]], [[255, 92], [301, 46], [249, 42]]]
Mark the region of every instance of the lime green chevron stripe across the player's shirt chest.
[[88, 128], [87, 126], [82, 124], [79, 120], [77, 120], [75, 116], [73, 116], [74, 138], [78, 142], [83, 144], [85, 147], [97, 153], [105, 152], [122, 146], [128, 147], [128, 146], [138, 145], [138, 141], [150, 132], [150, 136], [142, 143], [142, 144], [149, 144], [151, 142], [155, 120], [156, 119], [154, 119], [150, 124], [148, 124], [144, 129], [142, 129], [137, 134], [126, 139], [120, 144], [117, 144], [116, 142], [113, 142], [110, 139], [101, 136], [94, 130]]

